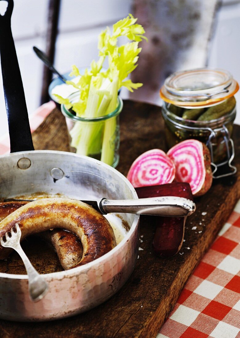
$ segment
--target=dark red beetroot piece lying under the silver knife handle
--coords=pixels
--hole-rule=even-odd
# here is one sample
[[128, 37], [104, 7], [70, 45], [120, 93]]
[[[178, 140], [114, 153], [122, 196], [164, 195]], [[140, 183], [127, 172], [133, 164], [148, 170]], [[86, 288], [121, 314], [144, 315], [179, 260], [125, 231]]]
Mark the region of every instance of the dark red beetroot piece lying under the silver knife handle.
[[[139, 198], [179, 196], [191, 199], [193, 195], [188, 183], [171, 183], [159, 186], [136, 188]], [[156, 224], [156, 232], [153, 239], [154, 253], [160, 257], [172, 257], [180, 250], [184, 238], [184, 217], [160, 217], [152, 216], [151, 220]]]

